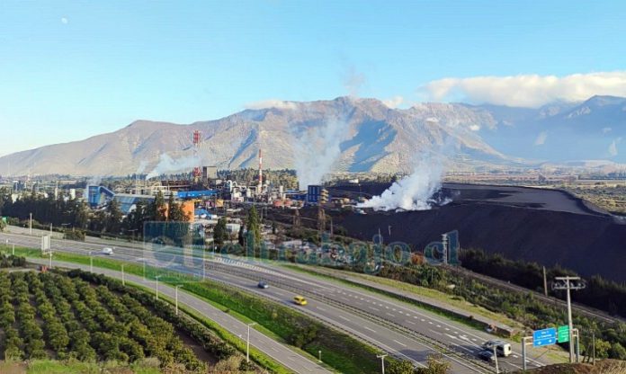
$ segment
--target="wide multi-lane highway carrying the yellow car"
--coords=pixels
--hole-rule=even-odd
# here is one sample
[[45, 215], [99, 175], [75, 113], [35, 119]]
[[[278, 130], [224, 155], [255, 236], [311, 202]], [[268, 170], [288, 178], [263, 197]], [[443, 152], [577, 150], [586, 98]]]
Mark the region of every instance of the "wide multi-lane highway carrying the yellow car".
[[[11, 243], [24, 246], [37, 247], [40, 242], [39, 237], [14, 234], [3, 234], [0, 238], [1, 240], [9, 239]], [[111, 246], [111, 242], [96, 240], [100, 243], [53, 240], [52, 246], [55, 250], [80, 254], [100, 251], [104, 246], [103, 243]], [[112, 257], [137, 263], [141, 260], [147, 261], [148, 254], [147, 251], [136, 246], [116, 246]], [[495, 368], [475, 358], [479, 345], [493, 339], [493, 335], [408, 306], [398, 300], [332, 281], [320, 280], [317, 277], [287, 271], [265, 263], [227, 261], [219, 257], [215, 260], [207, 262], [206, 274], [210, 279], [246, 289], [290, 307], [295, 307], [291, 303], [293, 296], [301, 294], [309, 298], [309, 306], [298, 307], [303, 313], [316, 317], [348, 334], [353, 334], [397, 357], [413, 361], [416, 365], [423, 365], [429, 354], [443, 352], [445, 359], [451, 362], [452, 371], [455, 373], [495, 371]], [[154, 262], [155, 259], [150, 259], [150, 261]], [[174, 263], [170, 263], [170, 270], [201, 274], [201, 268], [194, 269], [185, 266], [184, 261], [184, 258], [174, 258]], [[269, 289], [255, 287], [256, 282], [262, 279], [267, 280], [271, 285]], [[515, 343], [513, 347], [512, 356], [500, 359], [501, 369], [508, 371], [521, 369], [519, 343]], [[541, 354], [541, 352], [530, 351], [532, 355]], [[529, 367], [541, 364], [539, 361], [529, 361]]]

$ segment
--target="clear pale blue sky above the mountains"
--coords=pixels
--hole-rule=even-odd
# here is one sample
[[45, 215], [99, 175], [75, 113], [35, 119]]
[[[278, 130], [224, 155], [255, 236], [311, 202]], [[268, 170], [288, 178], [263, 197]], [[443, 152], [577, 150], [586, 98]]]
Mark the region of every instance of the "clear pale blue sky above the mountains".
[[[626, 94], [624, 19], [617, 1], [4, 0], [0, 155], [269, 99]], [[529, 100], [494, 92], [507, 76], [522, 77], [515, 92], [533, 84]]]

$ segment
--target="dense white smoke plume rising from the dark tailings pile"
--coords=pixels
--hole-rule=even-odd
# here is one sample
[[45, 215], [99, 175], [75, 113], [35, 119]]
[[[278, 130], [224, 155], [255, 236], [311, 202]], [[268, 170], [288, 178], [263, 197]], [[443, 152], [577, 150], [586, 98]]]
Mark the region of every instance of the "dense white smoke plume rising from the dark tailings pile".
[[451, 200], [439, 200], [434, 195], [441, 190], [443, 166], [447, 160], [446, 151], [451, 149], [450, 138], [438, 150], [424, 152], [416, 162], [412, 174], [407, 175], [383, 191], [357, 205], [358, 208], [374, 210], [427, 210], [433, 205], [444, 205]]

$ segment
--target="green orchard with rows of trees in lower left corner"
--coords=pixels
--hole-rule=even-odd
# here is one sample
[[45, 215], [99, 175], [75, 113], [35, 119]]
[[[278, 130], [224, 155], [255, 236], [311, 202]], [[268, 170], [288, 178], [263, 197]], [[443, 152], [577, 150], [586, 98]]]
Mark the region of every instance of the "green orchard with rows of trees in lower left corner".
[[52, 272], [0, 272], [5, 360], [143, 361], [206, 371], [174, 325], [129, 294]]

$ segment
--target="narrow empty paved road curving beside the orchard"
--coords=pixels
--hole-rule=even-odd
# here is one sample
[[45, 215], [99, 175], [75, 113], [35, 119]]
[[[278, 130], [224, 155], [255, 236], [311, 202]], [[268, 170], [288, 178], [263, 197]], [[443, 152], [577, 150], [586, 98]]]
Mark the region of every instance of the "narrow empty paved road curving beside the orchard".
[[[48, 261], [44, 259], [32, 259], [30, 261], [34, 263], [48, 263]], [[52, 265], [89, 271], [88, 265], [80, 265], [76, 263], [64, 263], [53, 260]], [[112, 278], [121, 279], [121, 272], [99, 268], [94, 268], [94, 272], [101, 273]], [[124, 277], [126, 281], [139, 284], [140, 286], [144, 286], [149, 289], [155, 289], [156, 282], [154, 280], [147, 280], [143, 277], [131, 274], [125, 274]], [[160, 295], [174, 298], [174, 288], [164, 284], [163, 282], [159, 283], [158, 292]], [[247, 325], [239, 321], [237, 318], [228, 315], [228, 313], [224, 313], [217, 307], [213, 307], [209, 303], [202, 301], [200, 298], [196, 298], [183, 290], [179, 290], [178, 292], [178, 302], [181, 305], [193, 308], [202, 316], [206, 316], [215, 321], [231, 334], [235, 334], [236, 336], [241, 336], [242, 339], [246, 339]], [[291, 351], [289, 347], [283, 345], [282, 343], [277, 343], [272, 338], [256, 331], [254, 327], [250, 329], [250, 345], [257, 348], [259, 351], [264, 352], [268, 356], [273, 357], [274, 360], [281, 362], [285, 367], [298, 373], [332, 372], [330, 370], [326, 370], [317, 364], [317, 362], [310, 361], [309, 358], [304, 357], [297, 352]]]

